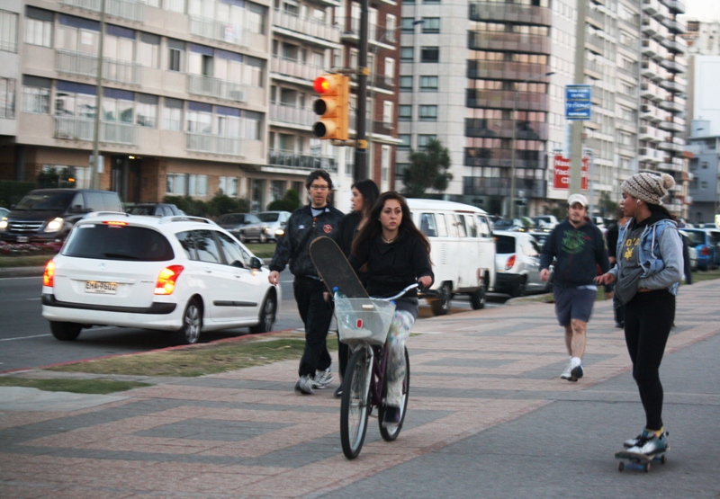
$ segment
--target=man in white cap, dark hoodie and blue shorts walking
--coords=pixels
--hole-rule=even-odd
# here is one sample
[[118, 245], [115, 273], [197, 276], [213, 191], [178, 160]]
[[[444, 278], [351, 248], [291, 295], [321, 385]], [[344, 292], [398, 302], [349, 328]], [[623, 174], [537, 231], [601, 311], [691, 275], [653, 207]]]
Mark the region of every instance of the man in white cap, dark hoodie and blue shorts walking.
[[608, 252], [600, 229], [588, 218], [588, 199], [582, 194], [568, 198], [568, 217], [554, 227], [540, 255], [540, 279], [547, 281], [555, 259], [553, 295], [555, 316], [565, 328], [565, 347], [570, 360], [560, 376], [581, 379], [586, 330], [598, 287], [593, 279], [608, 272]]

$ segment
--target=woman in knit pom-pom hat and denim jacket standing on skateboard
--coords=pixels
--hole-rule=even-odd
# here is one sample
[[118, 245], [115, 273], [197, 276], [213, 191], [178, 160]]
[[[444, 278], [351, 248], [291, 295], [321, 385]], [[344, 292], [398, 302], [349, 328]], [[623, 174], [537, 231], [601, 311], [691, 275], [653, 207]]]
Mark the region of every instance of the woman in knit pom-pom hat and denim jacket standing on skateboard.
[[628, 452], [653, 455], [667, 448], [662, 423], [660, 363], [675, 320], [675, 295], [682, 278], [682, 240], [662, 197], [675, 185], [668, 174], [635, 174], [622, 185], [620, 206], [630, 218], [620, 227], [617, 263], [597, 278], [617, 281], [615, 292], [625, 306], [625, 338], [633, 378], [645, 411], [645, 427], [625, 441]]

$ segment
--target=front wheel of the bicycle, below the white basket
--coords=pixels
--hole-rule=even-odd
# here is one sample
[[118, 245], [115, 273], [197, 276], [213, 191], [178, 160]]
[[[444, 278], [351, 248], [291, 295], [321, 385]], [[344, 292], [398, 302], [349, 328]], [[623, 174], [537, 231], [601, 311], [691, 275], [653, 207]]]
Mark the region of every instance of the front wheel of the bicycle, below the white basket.
[[363, 449], [370, 404], [370, 359], [365, 348], [353, 353], [347, 363], [340, 401], [340, 442], [347, 459], [356, 459]]

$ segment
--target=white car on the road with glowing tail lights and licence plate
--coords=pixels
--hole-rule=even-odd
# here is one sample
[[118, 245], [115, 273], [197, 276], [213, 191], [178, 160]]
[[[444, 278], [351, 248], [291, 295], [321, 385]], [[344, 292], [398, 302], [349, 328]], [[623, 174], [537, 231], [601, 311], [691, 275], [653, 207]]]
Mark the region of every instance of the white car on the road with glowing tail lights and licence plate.
[[62, 341], [92, 325], [173, 331], [177, 344], [241, 326], [265, 333], [281, 302], [269, 273], [206, 218], [92, 214], [45, 268], [42, 316]]

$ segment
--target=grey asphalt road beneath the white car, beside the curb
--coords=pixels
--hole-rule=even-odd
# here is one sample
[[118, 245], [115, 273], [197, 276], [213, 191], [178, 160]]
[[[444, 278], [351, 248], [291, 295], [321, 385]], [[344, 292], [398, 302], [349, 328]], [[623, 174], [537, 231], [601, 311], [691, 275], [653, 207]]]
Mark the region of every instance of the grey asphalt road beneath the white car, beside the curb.
[[[280, 275], [283, 301], [274, 329], [302, 328], [302, 321], [293, 299], [293, 275], [285, 270]], [[165, 348], [170, 343], [162, 331], [141, 328], [95, 326], [83, 330], [74, 342], [59, 342], [49, 333], [48, 321], [42, 318], [40, 305], [41, 277], [0, 279], [0, 372], [48, 366], [70, 361], [94, 359], [121, 353], [148, 352]], [[491, 298], [488, 307], [498, 307], [507, 299]], [[421, 307], [428, 307], [422, 304]], [[453, 311], [470, 310], [467, 299], [453, 301]], [[421, 316], [429, 316], [424, 310]], [[211, 342], [248, 334], [247, 328], [229, 329], [202, 334], [202, 342]]]

